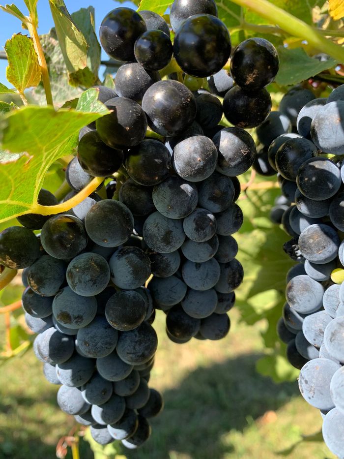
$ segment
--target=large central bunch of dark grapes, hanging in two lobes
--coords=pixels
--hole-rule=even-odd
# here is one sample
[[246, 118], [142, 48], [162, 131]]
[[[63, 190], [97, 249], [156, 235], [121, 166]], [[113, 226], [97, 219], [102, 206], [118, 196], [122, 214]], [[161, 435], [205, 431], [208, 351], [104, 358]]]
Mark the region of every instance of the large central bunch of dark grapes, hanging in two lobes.
[[[97, 87], [111, 113], [81, 130], [65, 200], [93, 177], [106, 180], [106, 199], [94, 192], [64, 214], [20, 216], [0, 234], [1, 264], [24, 269], [26, 321], [46, 378], [61, 384], [58, 405], [97, 442], [128, 448], [148, 439], [163, 406], [147, 385], [155, 310], [176, 343], [229, 332], [243, 280], [237, 176], [256, 158], [244, 128], [268, 117], [265, 87], [279, 66], [271, 43], [251, 38], [223, 68], [231, 42], [214, 0], [175, 0], [170, 19], [173, 44], [151, 11], [120, 7], [102, 22], [103, 48], [123, 63], [115, 91]], [[172, 60], [181, 71], [161, 79]], [[57, 204], [44, 189], [38, 202]]]

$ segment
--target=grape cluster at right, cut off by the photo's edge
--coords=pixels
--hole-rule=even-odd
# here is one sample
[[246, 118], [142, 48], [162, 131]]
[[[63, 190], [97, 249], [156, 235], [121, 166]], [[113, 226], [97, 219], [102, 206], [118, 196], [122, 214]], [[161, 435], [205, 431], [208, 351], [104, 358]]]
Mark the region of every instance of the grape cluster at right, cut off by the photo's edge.
[[291, 236], [284, 250], [298, 262], [277, 331], [301, 370], [302, 396], [321, 411], [325, 443], [344, 458], [344, 283], [332, 280], [344, 267], [344, 86], [328, 98], [293, 88], [270, 118], [270, 130], [257, 131], [282, 189], [271, 219]]

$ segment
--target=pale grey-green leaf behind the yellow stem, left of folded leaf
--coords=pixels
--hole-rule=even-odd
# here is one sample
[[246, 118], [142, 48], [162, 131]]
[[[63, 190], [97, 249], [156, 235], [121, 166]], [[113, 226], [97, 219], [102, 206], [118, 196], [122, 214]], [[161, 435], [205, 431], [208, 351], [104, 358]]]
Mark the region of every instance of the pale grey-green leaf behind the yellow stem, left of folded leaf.
[[[79, 97], [82, 90], [80, 88], [73, 88], [68, 84], [68, 71], [55, 30], [41, 35], [39, 39], [48, 65], [54, 104], [60, 107], [65, 101]], [[46, 98], [42, 84], [30, 91], [30, 99], [38, 105], [45, 104]]]

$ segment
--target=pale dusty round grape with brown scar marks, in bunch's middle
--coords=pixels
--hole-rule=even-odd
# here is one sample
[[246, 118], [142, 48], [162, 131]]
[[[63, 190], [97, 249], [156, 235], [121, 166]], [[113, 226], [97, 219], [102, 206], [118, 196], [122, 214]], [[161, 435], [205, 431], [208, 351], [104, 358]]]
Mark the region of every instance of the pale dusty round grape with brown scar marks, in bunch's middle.
[[195, 135], [179, 142], [172, 158], [179, 177], [189, 182], [201, 182], [215, 171], [218, 154], [208, 137]]

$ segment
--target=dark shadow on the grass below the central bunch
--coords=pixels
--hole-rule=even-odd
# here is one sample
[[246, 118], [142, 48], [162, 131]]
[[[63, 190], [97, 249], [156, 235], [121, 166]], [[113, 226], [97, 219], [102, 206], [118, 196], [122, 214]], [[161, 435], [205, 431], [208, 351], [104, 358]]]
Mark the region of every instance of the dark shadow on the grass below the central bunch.
[[128, 459], [170, 459], [175, 451], [192, 459], [220, 459], [233, 448], [221, 437], [242, 431], [250, 420], [277, 410], [299, 394], [294, 384], [274, 384], [255, 370], [258, 354], [197, 368], [179, 386], [166, 391], [165, 409], [152, 421], [149, 442]]

